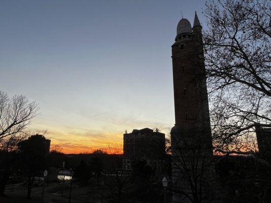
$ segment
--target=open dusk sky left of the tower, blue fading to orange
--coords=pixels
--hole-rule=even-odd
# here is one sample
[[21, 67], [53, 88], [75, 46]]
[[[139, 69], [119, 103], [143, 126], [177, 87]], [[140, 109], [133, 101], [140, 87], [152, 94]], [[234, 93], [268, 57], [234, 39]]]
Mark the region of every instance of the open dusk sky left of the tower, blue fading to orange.
[[[40, 107], [29, 130], [65, 153], [107, 149], [125, 130], [174, 125], [171, 45], [204, 1], [0, 2], [0, 90]], [[206, 27], [206, 26], [205, 26]]]

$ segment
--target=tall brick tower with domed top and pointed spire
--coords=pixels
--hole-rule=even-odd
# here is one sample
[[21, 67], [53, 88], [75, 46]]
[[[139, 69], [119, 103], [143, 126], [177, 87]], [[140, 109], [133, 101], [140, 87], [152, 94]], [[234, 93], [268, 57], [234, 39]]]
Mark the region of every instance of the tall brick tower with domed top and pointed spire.
[[[193, 28], [187, 19], [177, 25], [172, 45], [175, 126], [171, 129], [172, 187], [187, 195], [174, 193], [172, 202], [190, 202], [188, 196], [204, 193], [196, 191], [201, 180], [210, 176], [208, 170], [212, 152], [212, 136], [201, 25], [195, 14]], [[205, 167], [206, 166], [206, 167]], [[208, 178], [207, 178], [208, 179]], [[195, 195], [192, 194], [195, 192]]]

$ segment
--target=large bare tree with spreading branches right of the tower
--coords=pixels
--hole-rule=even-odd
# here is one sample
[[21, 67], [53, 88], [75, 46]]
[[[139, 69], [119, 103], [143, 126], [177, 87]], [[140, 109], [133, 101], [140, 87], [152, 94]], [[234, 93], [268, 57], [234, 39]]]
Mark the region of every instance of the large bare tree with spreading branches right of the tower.
[[270, 10], [268, 0], [206, 3], [206, 76], [220, 151], [251, 150], [245, 140], [255, 138], [255, 125], [271, 126]]

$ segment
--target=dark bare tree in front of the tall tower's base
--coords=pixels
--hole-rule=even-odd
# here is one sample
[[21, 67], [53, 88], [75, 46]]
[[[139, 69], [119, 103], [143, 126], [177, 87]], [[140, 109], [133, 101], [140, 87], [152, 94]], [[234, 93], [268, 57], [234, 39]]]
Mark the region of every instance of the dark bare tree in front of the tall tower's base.
[[215, 184], [215, 160], [204, 146], [203, 134], [197, 130], [171, 130], [171, 152], [171, 190], [184, 202], [210, 202], [214, 198], [210, 184]]

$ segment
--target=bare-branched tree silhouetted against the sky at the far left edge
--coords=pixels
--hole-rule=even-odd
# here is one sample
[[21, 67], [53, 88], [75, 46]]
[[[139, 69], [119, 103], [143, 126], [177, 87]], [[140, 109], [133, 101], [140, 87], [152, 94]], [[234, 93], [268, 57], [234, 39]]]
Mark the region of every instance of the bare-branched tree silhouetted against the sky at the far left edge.
[[38, 115], [38, 110], [35, 101], [30, 102], [23, 95], [10, 98], [7, 93], [0, 91], [0, 195], [4, 195], [11, 167], [14, 166], [17, 144], [25, 137], [25, 129]]

